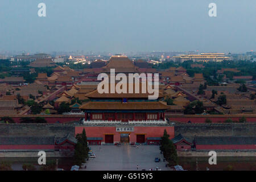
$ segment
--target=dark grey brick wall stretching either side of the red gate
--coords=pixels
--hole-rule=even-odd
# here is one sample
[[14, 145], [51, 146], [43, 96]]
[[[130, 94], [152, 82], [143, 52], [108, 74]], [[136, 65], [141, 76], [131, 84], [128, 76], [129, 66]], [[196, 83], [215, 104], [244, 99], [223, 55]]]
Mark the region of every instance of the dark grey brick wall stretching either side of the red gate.
[[[75, 136], [74, 123], [0, 124], [0, 135]], [[176, 123], [175, 135], [197, 136], [256, 136], [256, 123]]]

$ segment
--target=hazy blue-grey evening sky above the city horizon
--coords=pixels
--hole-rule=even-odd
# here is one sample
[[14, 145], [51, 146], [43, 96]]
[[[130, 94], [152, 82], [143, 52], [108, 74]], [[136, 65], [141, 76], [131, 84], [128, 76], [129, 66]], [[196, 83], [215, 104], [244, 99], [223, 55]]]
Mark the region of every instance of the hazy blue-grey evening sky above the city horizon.
[[256, 1], [1, 0], [0, 51], [23, 50], [256, 51]]

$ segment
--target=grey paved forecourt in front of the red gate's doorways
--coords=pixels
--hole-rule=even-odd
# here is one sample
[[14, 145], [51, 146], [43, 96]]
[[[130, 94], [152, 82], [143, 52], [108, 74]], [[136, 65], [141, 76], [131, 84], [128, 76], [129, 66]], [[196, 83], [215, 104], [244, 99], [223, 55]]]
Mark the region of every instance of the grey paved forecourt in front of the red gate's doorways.
[[[96, 158], [86, 161], [83, 171], [138, 171], [159, 167], [162, 171], [171, 170], [163, 162], [159, 146], [89, 146]], [[155, 163], [155, 158], [161, 162]]]

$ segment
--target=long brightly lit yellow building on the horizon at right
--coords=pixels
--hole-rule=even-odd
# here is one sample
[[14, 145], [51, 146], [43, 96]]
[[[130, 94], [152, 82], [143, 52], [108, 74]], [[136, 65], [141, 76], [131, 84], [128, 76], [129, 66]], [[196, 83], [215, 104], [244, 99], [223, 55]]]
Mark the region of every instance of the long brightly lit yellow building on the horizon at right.
[[172, 59], [180, 63], [188, 60], [192, 60], [194, 62], [221, 62], [223, 60], [230, 60], [230, 57], [226, 57], [225, 53], [201, 53], [200, 55], [173, 56]]

